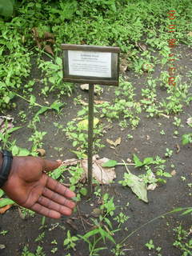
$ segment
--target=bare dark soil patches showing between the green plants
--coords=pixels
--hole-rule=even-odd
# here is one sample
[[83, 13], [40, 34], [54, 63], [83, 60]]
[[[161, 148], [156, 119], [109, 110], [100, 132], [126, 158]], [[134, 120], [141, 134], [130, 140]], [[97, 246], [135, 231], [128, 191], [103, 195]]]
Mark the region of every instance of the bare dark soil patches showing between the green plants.
[[[178, 74], [182, 74], [182, 78], [186, 82], [190, 82], [190, 78], [186, 77], [186, 72], [191, 70], [191, 49], [187, 46], [178, 46], [178, 51], [181, 53], [181, 58], [178, 60]], [[166, 67], [164, 67], [166, 69]], [[161, 73], [159, 66], [156, 66], [154, 71], [154, 78], [158, 78]], [[32, 78], [39, 78], [41, 75], [38, 70], [36, 70], [35, 62], [33, 64]], [[146, 82], [146, 74], [136, 75], [133, 71], [129, 71], [126, 74], [128, 81], [132, 82], [137, 88], [137, 100], [141, 98], [141, 88]], [[36, 96], [38, 102], [43, 102], [44, 98], [39, 95], [38, 82], [36, 83]], [[103, 86], [104, 92], [101, 96], [96, 96], [99, 100], [109, 100], [114, 98], [114, 87]], [[192, 87], [190, 87], [190, 93], [192, 93]], [[44, 138], [44, 148], [46, 149], [47, 158], [61, 158], [65, 160], [66, 158], [73, 158], [74, 155], [70, 153], [71, 143], [66, 140], [65, 134], [60, 131], [57, 133], [57, 128], [53, 125], [53, 122], [59, 122], [60, 124], [66, 126], [66, 123], [74, 118], [78, 106], [74, 105], [73, 98], [82, 94], [82, 99], [87, 100], [88, 94], [80, 90], [79, 86], [75, 86], [74, 94], [71, 98], [63, 97], [62, 102], [66, 102], [66, 106], [63, 108], [62, 113], [58, 114], [53, 111], [47, 112], [45, 115], [41, 116], [41, 123], [38, 124], [38, 130], [47, 131]], [[165, 97], [165, 91], [160, 87], [158, 88], [158, 97]], [[48, 102], [54, 101], [54, 96], [50, 95]], [[47, 100], [47, 99], [46, 99]], [[30, 121], [30, 117], [35, 113], [35, 108], [27, 111], [27, 122], [23, 125], [18, 118], [18, 111], [25, 110], [27, 108], [26, 102], [20, 98], [16, 98], [17, 108], [15, 110], [10, 110], [7, 114], [14, 117], [15, 125], [22, 125], [22, 129], [17, 130], [13, 134], [13, 139], [17, 139], [18, 145], [21, 147], [29, 147], [30, 142], [28, 138], [30, 136], [30, 129], [26, 127], [27, 123]], [[121, 130], [118, 126], [118, 122], [113, 122], [113, 127], [107, 131], [105, 136], [102, 138], [102, 142], [106, 145], [102, 150], [98, 152], [100, 157], [106, 157], [121, 161], [121, 159], [126, 160], [127, 158], [132, 158], [133, 154], [138, 154], [139, 158], [155, 157], [159, 155], [164, 158], [166, 152], [166, 147], [174, 150], [174, 154], [171, 158], [166, 158], [166, 171], [170, 172], [172, 169], [171, 164], [174, 164], [176, 174], [172, 178], [167, 178], [166, 184], [159, 185], [155, 190], [148, 192], [149, 203], [142, 202], [138, 200], [136, 196], [128, 188], [123, 188], [118, 184], [118, 180], [122, 179], [125, 167], [117, 166], [115, 171], [117, 174], [117, 179], [115, 183], [111, 186], [102, 187], [103, 192], [108, 192], [111, 196], [114, 196], [115, 206], [121, 206], [122, 212], [127, 214], [130, 218], [128, 221], [122, 225], [122, 230], [114, 235], [115, 241], [120, 242], [122, 238], [130, 234], [133, 230], [136, 230], [142, 224], [152, 220], [160, 214], [164, 214], [176, 207], [187, 207], [191, 206], [191, 188], [187, 186], [188, 183], [192, 182], [192, 170], [191, 170], [191, 157], [192, 157], [192, 146], [186, 145], [182, 146], [181, 135], [190, 132], [190, 128], [186, 126], [186, 118], [189, 118], [192, 114], [192, 104], [190, 106], [185, 106], [182, 114], [179, 114], [179, 118], [182, 119], [183, 127], [178, 127], [179, 136], [176, 138], [173, 136], [173, 131], [175, 127], [173, 125], [174, 116], [170, 118], [160, 117], [160, 118], [146, 118], [146, 114], [142, 112], [140, 114], [141, 121], [139, 122], [138, 128], [131, 130], [131, 128], [126, 128]], [[162, 125], [159, 126], [159, 123]], [[165, 131], [165, 135], [160, 134], [161, 130]], [[126, 135], [132, 134], [134, 138], [132, 140], [127, 139]], [[114, 154], [114, 150], [110, 149], [109, 145], [106, 143], [106, 138], [115, 139], [121, 137], [122, 143], [118, 146], [117, 154]], [[180, 146], [180, 151], [177, 153], [176, 145]], [[62, 147], [63, 152], [58, 153], [54, 150], [54, 147]], [[61, 156], [63, 154], [63, 156]], [[134, 174], [138, 174], [141, 170], [135, 170], [134, 166], [130, 166], [130, 171]], [[186, 180], [182, 181], [181, 176], [185, 177]], [[127, 203], [129, 206], [126, 206]], [[90, 206], [91, 205], [91, 206]], [[82, 202], [78, 203], [80, 214], [90, 214], [91, 211], [98, 206], [97, 198], [93, 197], [90, 201], [86, 201], [86, 198]], [[116, 212], [120, 212], [119, 207]], [[74, 223], [78, 226], [78, 230], [71, 228], [69, 224], [66, 223], [67, 218], [63, 217], [61, 220], [55, 221], [46, 218], [46, 226], [39, 230], [42, 222], [42, 216], [36, 214], [34, 218], [22, 219], [18, 214], [18, 207], [14, 206], [0, 216], [0, 231], [9, 230], [9, 233], [5, 236], [0, 236], [0, 244], [4, 244], [6, 249], [0, 250], [1, 256], [18, 256], [22, 255], [22, 249], [24, 246], [29, 246], [30, 251], [35, 251], [38, 245], [43, 247], [43, 251], [46, 255], [52, 255], [50, 250], [54, 247], [51, 241], [54, 239], [58, 242], [58, 251], [53, 254], [56, 256], [66, 255], [70, 252], [72, 256], [89, 256], [87, 246], [82, 241], [77, 242], [77, 250], [64, 250], [63, 249], [63, 239], [66, 237], [66, 230], [70, 229], [71, 234], [84, 234], [82, 223], [78, 218], [78, 213], [74, 214]], [[112, 220], [112, 219], [111, 219]], [[89, 221], [89, 217], [87, 218]], [[58, 223], [58, 226], [54, 228], [54, 224]], [[183, 228], [189, 230], [192, 225], [191, 215], [187, 214], [185, 217], [177, 214], [167, 215], [165, 218], [159, 218], [158, 220], [151, 222], [150, 224], [144, 226], [138, 232], [135, 232], [126, 241], [125, 253], [127, 256], [155, 256], [158, 255], [154, 250], [150, 251], [146, 248], [146, 242], [153, 239], [155, 246], [162, 247], [162, 255], [164, 256], [181, 256], [182, 252], [173, 246], [175, 240], [174, 228], [182, 223]], [[86, 225], [86, 224], [85, 224]], [[127, 230], [124, 230], [127, 228]], [[86, 225], [86, 230], [89, 230], [90, 226]], [[46, 231], [45, 238], [42, 242], [34, 242], [35, 238], [42, 231]], [[107, 243], [108, 250], [103, 250], [99, 255], [111, 256], [112, 253], [110, 249], [113, 247], [109, 242]]]

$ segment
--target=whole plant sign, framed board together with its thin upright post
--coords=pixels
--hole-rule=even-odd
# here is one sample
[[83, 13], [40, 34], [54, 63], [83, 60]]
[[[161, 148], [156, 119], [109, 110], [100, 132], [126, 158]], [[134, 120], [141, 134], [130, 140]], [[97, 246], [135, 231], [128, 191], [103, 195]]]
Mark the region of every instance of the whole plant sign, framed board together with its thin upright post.
[[89, 84], [88, 193], [92, 194], [94, 85], [118, 86], [118, 47], [62, 44], [63, 81]]

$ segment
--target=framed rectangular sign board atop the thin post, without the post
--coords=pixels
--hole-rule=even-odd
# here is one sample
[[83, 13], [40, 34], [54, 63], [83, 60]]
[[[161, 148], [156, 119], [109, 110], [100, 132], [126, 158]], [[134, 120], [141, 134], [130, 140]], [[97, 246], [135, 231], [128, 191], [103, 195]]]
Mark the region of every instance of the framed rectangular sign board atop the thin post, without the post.
[[62, 44], [63, 80], [118, 86], [119, 48]]

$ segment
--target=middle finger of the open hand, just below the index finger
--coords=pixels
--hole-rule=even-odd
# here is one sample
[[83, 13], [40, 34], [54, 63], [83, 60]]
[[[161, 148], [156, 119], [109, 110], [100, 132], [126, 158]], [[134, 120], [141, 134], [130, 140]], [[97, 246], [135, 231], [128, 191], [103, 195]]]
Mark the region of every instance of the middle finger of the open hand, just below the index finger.
[[42, 195], [45, 196], [46, 198], [50, 199], [51, 201], [58, 202], [58, 204], [62, 206], [66, 206], [70, 209], [73, 209], [75, 206], [75, 203], [66, 199], [64, 196], [61, 194], [58, 194], [52, 190], [49, 190], [48, 188], [44, 188], [42, 191]]

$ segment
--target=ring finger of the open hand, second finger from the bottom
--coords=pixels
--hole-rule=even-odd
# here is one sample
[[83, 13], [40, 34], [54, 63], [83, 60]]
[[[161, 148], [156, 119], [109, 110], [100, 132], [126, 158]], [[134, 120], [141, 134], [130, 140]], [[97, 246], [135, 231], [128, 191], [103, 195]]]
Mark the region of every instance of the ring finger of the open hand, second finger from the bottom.
[[43, 196], [38, 198], [38, 203], [42, 206], [45, 206], [46, 208], [48, 208], [50, 210], [55, 210], [62, 215], [70, 216], [72, 214], [72, 210], [70, 208], [68, 208], [66, 206], [62, 206], [62, 205], [58, 204], [57, 202], [54, 202], [54, 201], [50, 200], [49, 198], [45, 198]]

